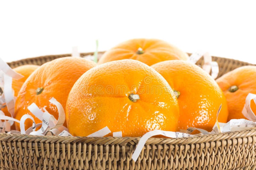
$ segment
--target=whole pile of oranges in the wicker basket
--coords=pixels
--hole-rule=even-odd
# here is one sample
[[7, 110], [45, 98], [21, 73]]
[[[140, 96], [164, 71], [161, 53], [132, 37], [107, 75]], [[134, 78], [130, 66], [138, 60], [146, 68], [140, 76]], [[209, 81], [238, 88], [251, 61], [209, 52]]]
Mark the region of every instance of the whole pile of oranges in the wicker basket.
[[[156, 129], [211, 131], [220, 105], [219, 122], [244, 118], [245, 97], [256, 93], [256, 68], [238, 68], [216, 82], [187, 59], [187, 53], [162, 40], [132, 39], [105, 52], [98, 64], [64, 57], [40, 67], [17, 67], [24, 78], [12, 84], [15, 118], [33, 116], [27, 107], [36, 103], [58, 119], [52, 97], [62, 104], [64, 126], [74, 136], [88, 136], [105, 126], [131, 137]], [[25, 122], [26, 129], [31, 125]]]

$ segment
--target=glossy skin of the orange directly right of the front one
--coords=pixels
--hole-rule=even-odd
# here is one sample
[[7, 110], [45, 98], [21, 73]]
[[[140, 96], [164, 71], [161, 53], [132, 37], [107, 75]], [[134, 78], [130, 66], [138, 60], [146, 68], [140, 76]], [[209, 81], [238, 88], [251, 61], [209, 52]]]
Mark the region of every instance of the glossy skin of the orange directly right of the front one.
[[182, 60], [163, 61], [151, 67], [167, 80], [172, 89], [180, 92], [180, 129], [196, 127], [212, 131], [220, 104], [222, 108], [218, 121], [227, 122], [225, 96], [218, 84], [202, 68]]

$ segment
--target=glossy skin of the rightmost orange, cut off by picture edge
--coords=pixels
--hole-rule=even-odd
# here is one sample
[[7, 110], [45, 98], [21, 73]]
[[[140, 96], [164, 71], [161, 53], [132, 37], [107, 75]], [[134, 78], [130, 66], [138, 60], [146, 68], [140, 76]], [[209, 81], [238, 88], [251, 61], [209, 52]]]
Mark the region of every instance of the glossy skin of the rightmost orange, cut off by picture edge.
[[[228, 121], [230, 119], [246, 119], [242, 114], [245, 98], [249, 93], [256, 94], [256, 66], [243, 66], [236, 68], [218, 78], [216, 81], [226, 96], [228, 103]], [[231, 86], [237, 86], [238, 90], [230, 92]], [[251, 101], [251, 107], [256, 113], [256, 107]]]

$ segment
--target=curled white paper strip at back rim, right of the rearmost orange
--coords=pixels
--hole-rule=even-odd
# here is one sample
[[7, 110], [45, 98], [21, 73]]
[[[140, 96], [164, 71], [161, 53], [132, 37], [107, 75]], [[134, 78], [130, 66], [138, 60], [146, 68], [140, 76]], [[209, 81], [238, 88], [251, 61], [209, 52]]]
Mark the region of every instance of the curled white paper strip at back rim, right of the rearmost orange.
[[204, 65], [202, 66], [202, 68], [204, 69], [204, 71], [206, 71], [208, 74], [210, 74], [211, 70], [212, 70], [212, 78], [216, 79], [218, 77], [219, 74], [219, 65], [217, 62], [212, 61], [212, 56], [209, 55], [209, 53], [206, 52], [202, 52], [202, 51], [198, 51], [196, 53], [193, 53], [190, 55], [188, 62], [196, 64], [196, 62], [201, 58], [204, 57]]

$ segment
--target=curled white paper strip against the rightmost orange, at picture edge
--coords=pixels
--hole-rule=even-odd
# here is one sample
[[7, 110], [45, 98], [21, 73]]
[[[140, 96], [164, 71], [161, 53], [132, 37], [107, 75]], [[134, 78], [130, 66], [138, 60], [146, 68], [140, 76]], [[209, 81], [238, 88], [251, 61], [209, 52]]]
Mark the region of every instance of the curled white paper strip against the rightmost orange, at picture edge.
[[253, 100], [254, 103], [256, 104], [256, 95], [252, 94], [252, 93], [249, 93], [246, 96], [245, 104], [244, 104], [244, 108], [242, 110], [242, 113], [243, 113], [244, 117], [246, 117], [247, 119], [249, 119], [253, 122], [256, 122], [256, 116], [255, 116], [254, 112], [251, 109], [251, 100]]

